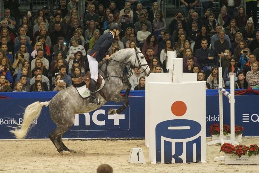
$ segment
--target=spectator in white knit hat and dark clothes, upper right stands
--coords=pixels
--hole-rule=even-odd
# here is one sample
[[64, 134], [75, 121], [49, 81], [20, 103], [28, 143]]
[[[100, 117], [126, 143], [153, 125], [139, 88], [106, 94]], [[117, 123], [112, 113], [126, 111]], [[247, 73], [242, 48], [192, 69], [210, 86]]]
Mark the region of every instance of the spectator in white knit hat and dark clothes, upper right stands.
[[247, 41], [247, 44], [250, 44], [250, 42], [253, 41], [256, 37], [256, 32], [254, 30], [254, 22], [251, 17], [247, 20], [247, 25], [245, 26], [245, 29], [243, 30], [242, 34], [243, 39]]

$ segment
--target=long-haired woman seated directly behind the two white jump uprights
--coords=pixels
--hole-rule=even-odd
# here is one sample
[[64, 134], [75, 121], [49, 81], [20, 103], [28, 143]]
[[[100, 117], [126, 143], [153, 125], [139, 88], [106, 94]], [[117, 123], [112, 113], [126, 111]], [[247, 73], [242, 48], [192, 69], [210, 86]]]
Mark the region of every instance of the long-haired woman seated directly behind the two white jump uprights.
[[235, 58], [231, 57], [229, 59], [229, 66], [226, 67], [226, 69], [224, 70], [224, 74], [223, 74], [223, 80], [225, 82], [226, 87], [230, 86], [230, 76], [231, 75], [235, 75], [235, 81], [237, 81], [238, 73], [240, 73], [240, 69], [236, 65]]

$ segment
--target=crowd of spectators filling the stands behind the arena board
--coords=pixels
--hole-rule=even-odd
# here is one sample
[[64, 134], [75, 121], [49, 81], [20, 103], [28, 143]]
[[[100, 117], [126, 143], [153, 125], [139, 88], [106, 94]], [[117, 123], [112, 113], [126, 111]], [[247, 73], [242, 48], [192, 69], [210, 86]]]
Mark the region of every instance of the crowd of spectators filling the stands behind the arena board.
[[[35, 14], [28, 9], [23, 17], [17, 0], [4, 2], [0, 92], [60, 91], [70, 86], [71, 78], [89, 70], [86, 54], [113, 21], [123, 32], [114, 38], [107, 55], [139, 47], [151, 72], [157, 73], [167, 72], [167, 52], [176, 51], [183, 58], [183, 72], [197, 73], [197, 80], [206, 80], [208, 89], [218, 88], [219, 66], [224, 86], [229, 87], [230, 75], [235, 75], [236, 88], [259, 87], [259, 31], [250, 2], [245, 8], [239, 0], [221, 0], [215, 15], [212, 1], [203, 0], [199, 16], [194, 9], [198, 0], [181, 0], [184, 12], [177, 12], [169, 25], [156, 1], [149, 10], [144, 9], [146, 1], [125, 0], [121, 9], [116, 8], [117, 1], [85, 1], [86, 11], [79, 16], [78, 0], [59, 0], [53, 12], [44, 6]], [[138, 69], [129, 82], [132, 90], [145, 89], [145, 77]]]

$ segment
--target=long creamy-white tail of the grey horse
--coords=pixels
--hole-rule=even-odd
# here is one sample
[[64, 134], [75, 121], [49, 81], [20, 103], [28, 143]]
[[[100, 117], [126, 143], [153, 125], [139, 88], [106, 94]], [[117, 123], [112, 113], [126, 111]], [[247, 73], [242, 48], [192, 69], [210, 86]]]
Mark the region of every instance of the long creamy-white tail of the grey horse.
[[[26, 137], [27, 133], [33, 126], [33, 121], [38, 119], [40, 116], [40, 112], [43, 106], [48, 106], [49, 102], [34, 102], [27, 106], [23, 114], [22, 124], [16, 123], [16, 127], [14, 130], [10, 130], [9, 132], [13, 133], [17, 139], [23, 139]], [[18, 129], [19, 128], [19, 129]]]

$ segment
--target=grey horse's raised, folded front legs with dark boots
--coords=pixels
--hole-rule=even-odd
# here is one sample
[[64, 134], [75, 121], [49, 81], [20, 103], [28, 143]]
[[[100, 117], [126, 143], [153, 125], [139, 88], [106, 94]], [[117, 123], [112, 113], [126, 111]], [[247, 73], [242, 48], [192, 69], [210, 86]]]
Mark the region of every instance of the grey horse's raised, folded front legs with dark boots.
[[129, 99], [128, 99], [128, 96], [129, 96], [129, 93], [130, 93], [130, 89], [127, 89], [124, 96], [121, 96], [121, 95], [116, 95], [114, 97], [112, 97], [112, 100], [111, 101], [115, 101], [115, 102], [123, 102], [124, 105], [121, 106], [119, 109], [115, 110], [114, 108], [111, 108], [109, 111], [108, 111], [108, 114], [111, 115], [111, 114], [120, 114], [122, 111], [124, 111], [124, 109], [126, 109], [126, 107], [129, 105]]

